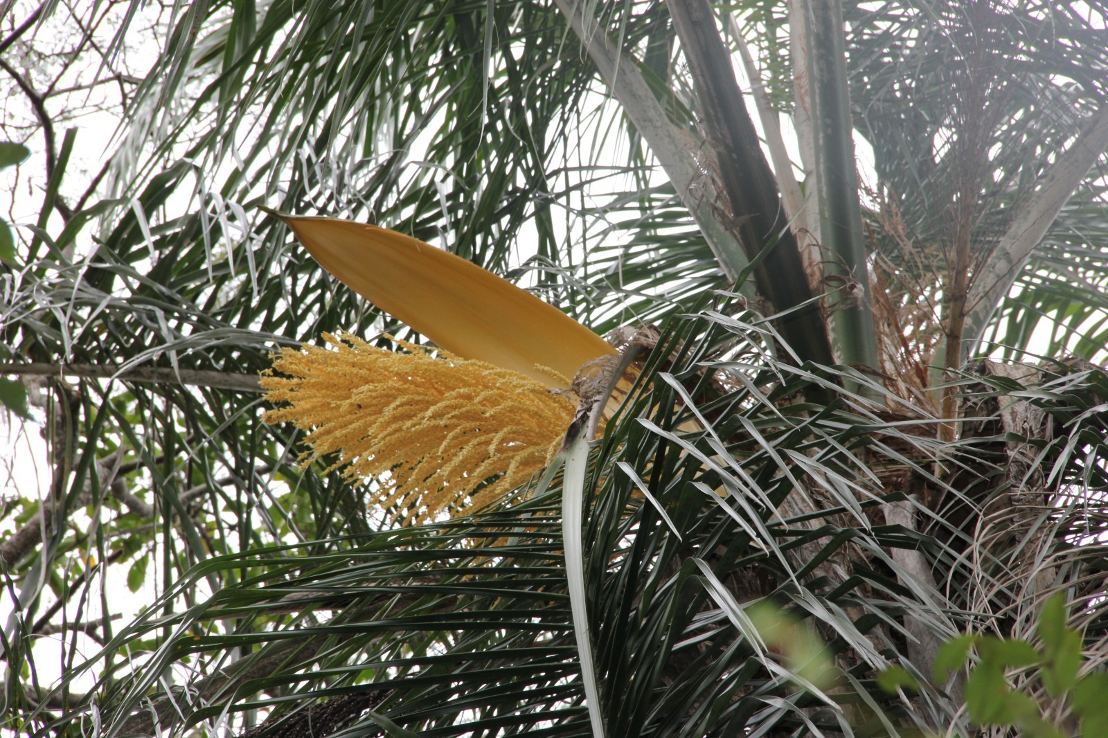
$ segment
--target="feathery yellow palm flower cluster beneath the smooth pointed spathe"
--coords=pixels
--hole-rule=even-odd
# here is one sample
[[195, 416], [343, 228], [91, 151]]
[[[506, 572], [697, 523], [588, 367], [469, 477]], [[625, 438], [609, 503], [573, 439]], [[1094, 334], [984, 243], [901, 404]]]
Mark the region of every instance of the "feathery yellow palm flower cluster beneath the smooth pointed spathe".
[[284, 351], [261, 377], [286, 407], [266, 422], [308, 431], [305, 464], [330, 453], [347, 478], [379, 484], [398, 522], [481, 505], [546, 464], [575, 404], [533, 379], [445, 351], [406, 352], [324, 334], [330, 348]]

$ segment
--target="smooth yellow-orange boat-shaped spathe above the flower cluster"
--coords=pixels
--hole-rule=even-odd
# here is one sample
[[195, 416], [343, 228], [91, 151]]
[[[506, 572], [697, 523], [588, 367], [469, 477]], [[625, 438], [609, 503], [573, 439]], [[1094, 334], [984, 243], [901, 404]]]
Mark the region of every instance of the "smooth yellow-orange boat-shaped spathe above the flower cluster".
[[574, 377], [614, 353], [557, 308], [481, 267], [410, 236], [326, 217], [279, 215], [328, 271], [451, 353], [531, 377]]

